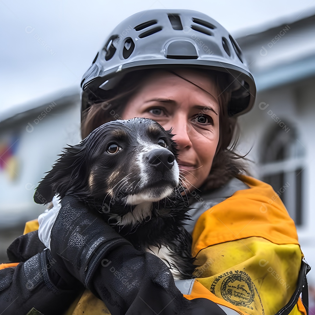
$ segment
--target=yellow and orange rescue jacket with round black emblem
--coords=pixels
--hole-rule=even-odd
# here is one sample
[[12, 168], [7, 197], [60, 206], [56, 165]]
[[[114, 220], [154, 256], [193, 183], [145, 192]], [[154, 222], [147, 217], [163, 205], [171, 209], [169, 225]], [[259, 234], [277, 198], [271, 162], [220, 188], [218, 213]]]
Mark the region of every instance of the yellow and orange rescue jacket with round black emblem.
[[[203, 212], [192, 232], [198, 267], [187, 299], [207, 298], [242, 315], [274, 315], [287, 305], [303, 253], [295, 224], [269, 184], [239, 175], [249, 189]], [[26, 222], [24, 234], [38, 229]], [[89, 290], [65, 315], [110, 314]], [[290, 315], [306, 315], [301, 298]]]

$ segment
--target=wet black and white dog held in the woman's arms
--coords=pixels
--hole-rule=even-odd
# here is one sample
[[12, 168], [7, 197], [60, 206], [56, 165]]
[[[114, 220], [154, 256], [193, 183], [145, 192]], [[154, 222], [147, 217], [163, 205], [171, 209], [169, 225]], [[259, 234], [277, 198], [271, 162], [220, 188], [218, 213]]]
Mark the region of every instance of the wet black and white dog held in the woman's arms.
[[[181, 195], [178, 155], [171, 131], [147, 118], [116, 120], [65, 148], [36, 188], [36, 203], [55, 194], [77, 197], [136, 249], [151, 251], [175, 279], [191, 278], [188, 203]], [[38, 196], [41, 196], [40, 198]]]

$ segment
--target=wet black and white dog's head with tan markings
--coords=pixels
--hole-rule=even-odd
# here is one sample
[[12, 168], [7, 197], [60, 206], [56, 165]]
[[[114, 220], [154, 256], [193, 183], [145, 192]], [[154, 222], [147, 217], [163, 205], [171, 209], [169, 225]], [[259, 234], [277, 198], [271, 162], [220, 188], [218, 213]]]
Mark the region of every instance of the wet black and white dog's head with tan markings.
[[179, 185], [171, 131], [148, 118], [116, 120], [65, 148], [36, 188], [36, 203], [73, 194], [121, 205], [155, 202]]

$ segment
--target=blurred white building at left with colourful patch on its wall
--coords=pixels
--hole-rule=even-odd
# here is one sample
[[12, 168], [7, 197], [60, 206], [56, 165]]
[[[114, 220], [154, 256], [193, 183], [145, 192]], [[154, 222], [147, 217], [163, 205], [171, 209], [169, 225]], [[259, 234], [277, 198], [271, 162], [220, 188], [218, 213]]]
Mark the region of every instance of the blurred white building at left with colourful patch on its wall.
[[79, 88], [65, 89], [0, 115], [0, 261], [23, 233], [26, 221], [44, 211], [35, 188], [66, 144], [80, 139]]

